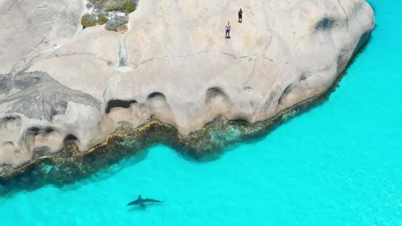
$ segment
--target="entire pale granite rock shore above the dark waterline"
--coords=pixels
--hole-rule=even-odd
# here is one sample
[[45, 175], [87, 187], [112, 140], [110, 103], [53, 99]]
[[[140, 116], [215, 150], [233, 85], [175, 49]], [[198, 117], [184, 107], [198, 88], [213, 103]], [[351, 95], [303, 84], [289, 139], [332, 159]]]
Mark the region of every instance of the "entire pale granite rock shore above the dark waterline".
[[[271, 119], [328, 90], [374, 27], [364, 0], [141, 0], [127, 33], [80, 31], [85, 3], [0, 1], [0, 165], [153, 119], [184, 136], [218, 116]], [[245, 131], [226, 130], [207, 138]]]

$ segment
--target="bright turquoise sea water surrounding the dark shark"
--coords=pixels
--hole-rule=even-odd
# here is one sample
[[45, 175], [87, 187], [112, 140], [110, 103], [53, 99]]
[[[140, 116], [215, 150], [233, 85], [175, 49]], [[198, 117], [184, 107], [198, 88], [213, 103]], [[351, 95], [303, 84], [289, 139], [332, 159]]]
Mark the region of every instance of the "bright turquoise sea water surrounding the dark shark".
[[[402, 226], [402, 2], [370, 2], [370, 43], [322, 105], [213, 162], [156, 146], [76, 185], [0, 199], [0, 225]], [[138, 194], [165, 202], [126, 207]]]

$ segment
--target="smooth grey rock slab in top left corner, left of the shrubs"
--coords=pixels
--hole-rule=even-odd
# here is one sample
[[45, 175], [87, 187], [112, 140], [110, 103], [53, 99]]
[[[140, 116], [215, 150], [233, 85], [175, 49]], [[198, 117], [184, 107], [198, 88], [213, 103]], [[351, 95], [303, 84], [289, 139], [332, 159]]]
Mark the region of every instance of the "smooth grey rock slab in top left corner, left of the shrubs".
[[81, 28], [82, 0], [0, 1], [0, 74], [21, 70]]

